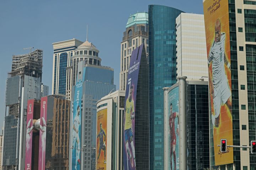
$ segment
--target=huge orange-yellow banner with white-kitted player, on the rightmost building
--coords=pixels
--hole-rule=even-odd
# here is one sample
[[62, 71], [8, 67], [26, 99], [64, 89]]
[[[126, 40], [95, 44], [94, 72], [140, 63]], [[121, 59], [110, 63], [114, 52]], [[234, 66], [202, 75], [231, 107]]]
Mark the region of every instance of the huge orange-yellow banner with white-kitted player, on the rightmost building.
[[[233, 145], [230, 37], [228, 0], [205, 0], [204, 22], [209, 68], [210, 134], [212, 165], [233, 163], [233, 148], [220, 152], [220, 139]], [[213, 149], [214, 148], [214, 149]], [[213, 157], [213, 155], [210, 155]]]

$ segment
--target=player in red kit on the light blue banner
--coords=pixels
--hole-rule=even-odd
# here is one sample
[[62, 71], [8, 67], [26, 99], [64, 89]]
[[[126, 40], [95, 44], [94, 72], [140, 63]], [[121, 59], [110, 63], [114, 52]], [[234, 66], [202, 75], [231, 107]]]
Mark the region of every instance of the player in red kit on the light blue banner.
[[[172, 103], [170, 104], [170, 117], [169, 117], [169, 126], [170, 126], [170, 136], [171, 136], [171, 146], [170, 146], [170, 158], [171, 158], [171, 170], [172, 170], [172, 154], [174, 155], [174, 170], [176, 170], [176, 135], [175, 135], [175, 118], [178, 118], [178, 112], [172, 112]], [[179, 125], [177, 125], [177, 136], [179, 134]]]

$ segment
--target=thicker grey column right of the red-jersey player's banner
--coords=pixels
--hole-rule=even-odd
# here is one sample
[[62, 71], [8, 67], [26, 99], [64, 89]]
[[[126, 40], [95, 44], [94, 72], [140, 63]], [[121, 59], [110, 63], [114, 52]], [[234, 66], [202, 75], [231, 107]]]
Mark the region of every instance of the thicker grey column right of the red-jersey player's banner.
[[186, 79], [185, 76], [178, 77], [179, 84], [179, 160], [180, 170], [187, 169], [187, 115], [186, 115]]

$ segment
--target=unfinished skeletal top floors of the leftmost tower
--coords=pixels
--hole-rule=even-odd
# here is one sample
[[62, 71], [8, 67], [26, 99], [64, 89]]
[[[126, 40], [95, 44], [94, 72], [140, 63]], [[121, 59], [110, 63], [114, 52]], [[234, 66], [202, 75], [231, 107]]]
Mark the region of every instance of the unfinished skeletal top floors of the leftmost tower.
[[24, 75], [42, 79], [43, 67], [43, 50], [35, 50], [28, 54], [13, 55], [12, 56], [12, 69], [8, 73], [11, 77]]

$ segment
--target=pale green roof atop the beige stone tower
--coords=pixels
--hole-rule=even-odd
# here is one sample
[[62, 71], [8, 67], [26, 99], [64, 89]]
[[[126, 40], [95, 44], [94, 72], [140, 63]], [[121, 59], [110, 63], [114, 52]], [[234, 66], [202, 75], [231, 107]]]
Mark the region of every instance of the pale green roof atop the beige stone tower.
[[137, 12], [133, 15], [130, 15], [126, 24], [126, 28], [134, 24], [148, 24], [148, 12]]

